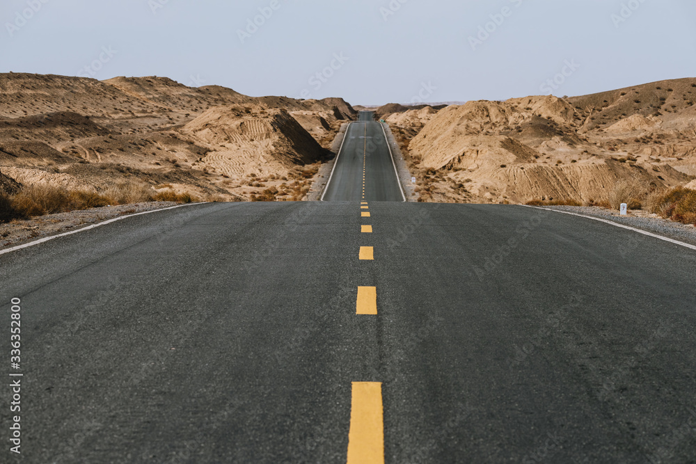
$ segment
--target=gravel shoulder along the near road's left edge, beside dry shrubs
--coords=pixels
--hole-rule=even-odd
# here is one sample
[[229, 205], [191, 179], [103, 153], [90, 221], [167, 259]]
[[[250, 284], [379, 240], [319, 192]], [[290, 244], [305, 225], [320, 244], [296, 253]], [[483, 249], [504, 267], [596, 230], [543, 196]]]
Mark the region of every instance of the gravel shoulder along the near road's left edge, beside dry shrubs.
[[176, 206], [175, 202], [145, 202], [103, 208], [47, 214], [22, 221], [0, 224], [0, 250], [23, 245], [37, 239], [70, 232], [88, 225], [108, 221], [127, 214], [141, 213]]

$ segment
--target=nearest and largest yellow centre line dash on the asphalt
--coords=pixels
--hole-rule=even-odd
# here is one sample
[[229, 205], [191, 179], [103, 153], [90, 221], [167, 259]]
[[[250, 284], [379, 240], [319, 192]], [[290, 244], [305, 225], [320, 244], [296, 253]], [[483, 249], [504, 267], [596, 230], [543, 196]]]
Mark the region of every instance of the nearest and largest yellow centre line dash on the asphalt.
[[347, 463], [384, 463], [381, 382], [353, 382]]

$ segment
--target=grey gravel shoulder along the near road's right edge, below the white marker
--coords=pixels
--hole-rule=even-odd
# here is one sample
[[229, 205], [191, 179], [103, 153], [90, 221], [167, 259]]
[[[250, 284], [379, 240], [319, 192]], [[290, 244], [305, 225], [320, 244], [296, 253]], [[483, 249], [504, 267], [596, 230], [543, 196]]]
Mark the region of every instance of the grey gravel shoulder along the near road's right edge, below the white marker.
[[585, 216], [606, 219], [615, 223], [629, 225], [646, 232], [663, 235], [670, 239], [696, 245], [695, 226], [676, 223], [668, 219], [663, 219], [656, 214], [648, 214], [645, 211], [628, 211], [628, 216], [621, 216], [619, 211], [600, 207], [554, 206], [546, 207], [546, 209], [568, 211], [576, 214], [584, 214]]

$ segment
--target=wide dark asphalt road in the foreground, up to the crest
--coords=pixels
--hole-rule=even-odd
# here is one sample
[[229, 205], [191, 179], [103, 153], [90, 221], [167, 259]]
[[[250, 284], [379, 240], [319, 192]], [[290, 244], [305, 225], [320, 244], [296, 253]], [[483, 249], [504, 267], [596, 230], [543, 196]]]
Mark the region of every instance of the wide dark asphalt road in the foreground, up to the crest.
[[354, 382], [381, 383], [388, 463], [694, 461], [696, 253], [525, 207], [361, 211], [190, 206], [1, 255], [0, 461], [345, 463]]

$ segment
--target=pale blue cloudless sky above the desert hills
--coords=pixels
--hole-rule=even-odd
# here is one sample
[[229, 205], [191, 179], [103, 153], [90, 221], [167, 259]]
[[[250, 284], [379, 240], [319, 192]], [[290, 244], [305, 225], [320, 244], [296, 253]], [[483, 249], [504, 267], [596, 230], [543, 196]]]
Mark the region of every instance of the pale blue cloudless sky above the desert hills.
[[583, 95], [696, 77], [695, 18], [693, 0], [3, 0], [0, 72], [352, 104]]

